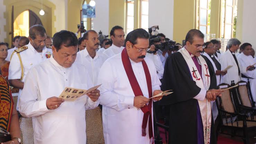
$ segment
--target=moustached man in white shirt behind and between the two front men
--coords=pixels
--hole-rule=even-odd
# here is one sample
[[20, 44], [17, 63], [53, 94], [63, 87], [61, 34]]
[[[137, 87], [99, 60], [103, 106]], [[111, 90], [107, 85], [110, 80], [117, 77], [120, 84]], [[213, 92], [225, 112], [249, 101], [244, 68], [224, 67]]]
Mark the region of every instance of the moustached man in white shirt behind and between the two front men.
[[100, 55], [97, 51], [99, 47], [99, 36], [94, 30], [88, 30], [83, 34], [86, 48], [77, 53], [76, 62], [85, 66], [91, 81], [96, 85], [99, 75], [99, 69], [106, 60], [104, 55]]

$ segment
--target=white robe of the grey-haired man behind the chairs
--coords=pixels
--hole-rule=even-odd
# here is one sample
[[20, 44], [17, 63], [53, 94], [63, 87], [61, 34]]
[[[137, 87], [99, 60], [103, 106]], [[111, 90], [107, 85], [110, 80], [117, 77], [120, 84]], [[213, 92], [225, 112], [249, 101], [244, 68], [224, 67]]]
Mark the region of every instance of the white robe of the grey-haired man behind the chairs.
[[[221, 55], [221, 70], [224, 70], [227, 66], [232, 66], [230, 69], [228, 69], [228, 73], [221, 77], [221, 83], [226, 83], [230, 85], [231, 81], [234, 80], [236, 84], [238, 81], [241, 80], [241, 73], [246, 73], [246, 67], [241, 66], [239, 61], [237, 61], [237, 65], [233, 55], [235, 56], [235, 53], [232, 54], [229, 49]], [[240, 73], [238, 71], [240, 71]]]

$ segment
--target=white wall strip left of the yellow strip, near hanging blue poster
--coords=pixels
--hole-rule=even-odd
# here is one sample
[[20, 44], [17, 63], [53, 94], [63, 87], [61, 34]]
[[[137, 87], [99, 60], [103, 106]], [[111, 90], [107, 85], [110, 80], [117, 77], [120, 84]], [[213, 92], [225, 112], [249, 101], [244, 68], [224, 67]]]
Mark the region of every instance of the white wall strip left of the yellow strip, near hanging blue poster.
[[95, 0], [94, 27], [96, 32], [102, 31], [103, 35], [108, 35], [109, 26], [109, 0]]

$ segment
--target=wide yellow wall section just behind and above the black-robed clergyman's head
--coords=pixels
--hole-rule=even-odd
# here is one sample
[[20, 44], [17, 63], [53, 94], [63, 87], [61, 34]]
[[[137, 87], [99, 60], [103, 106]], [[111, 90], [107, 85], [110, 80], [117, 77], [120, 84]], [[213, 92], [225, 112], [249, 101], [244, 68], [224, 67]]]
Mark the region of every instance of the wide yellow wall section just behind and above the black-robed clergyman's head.
[[173, 39], [181, 43], [195, 28], [195, 0], [174, 0]]

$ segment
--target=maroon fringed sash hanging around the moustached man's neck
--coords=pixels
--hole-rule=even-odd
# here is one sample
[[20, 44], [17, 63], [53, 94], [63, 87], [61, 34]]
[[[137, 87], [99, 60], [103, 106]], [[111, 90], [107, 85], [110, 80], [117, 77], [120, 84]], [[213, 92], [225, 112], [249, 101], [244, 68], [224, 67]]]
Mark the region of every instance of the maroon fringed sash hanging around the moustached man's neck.
[[[131, 84], [134, 95], [135, 96], [143, 96], [140, 85], [134, 75], [134, 72], [132, 69], [132, 64], [131, 64], [131, 61], [127, 54], [126, 48], [123, 49], [121, 56], [122, 56], [122, 62], [124, 65], [124, 69], [125, 69], [128, 79], [129, 79], [129, 82]], [[144, 60], [141, 62], [142, 62], [142, 66], [143, 66], [143, 69], [145, 72], [145, 76], [146, 76], [148, 93], [149, 93], [149, 98], [150, 98], [150, 97], [152, 97], [151, 77], [150, 77], [149, 69], [148, 69], [146, 62]], [[153, 143], [154, 137], [153, 137], [153, 128], [152, 128], [152, 99], [150, 99], [148, 105], [145, 105], [141, 108], [141, 111], [144, 113], [143, 121], [142, 121], [142, 136], [146, 136], [146, 127], [147, 127], [147, 122], [149, 119], [149, 138], [150, 138], [150, 140], [152, 140], [152, 143]]]

